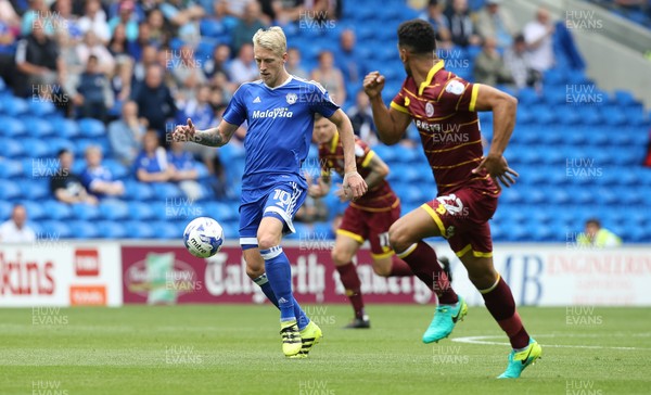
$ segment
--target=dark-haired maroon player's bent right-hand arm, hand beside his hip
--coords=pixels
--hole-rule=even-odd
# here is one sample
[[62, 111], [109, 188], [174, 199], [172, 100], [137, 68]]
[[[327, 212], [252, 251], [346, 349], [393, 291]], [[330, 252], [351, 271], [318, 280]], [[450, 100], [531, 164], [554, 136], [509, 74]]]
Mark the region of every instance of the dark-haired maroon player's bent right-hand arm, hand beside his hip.
[[519, 175], [509, 167], [503, 153], [515, 126], [518, 99], [490, 86], [480, 85], [475, 109], [493, 111], [493, 141], [488, 154], [473, 171], [485, 168], [494, 180], [499, 180], [507, 188], [511, 187], [515, 183], [514, 177]]

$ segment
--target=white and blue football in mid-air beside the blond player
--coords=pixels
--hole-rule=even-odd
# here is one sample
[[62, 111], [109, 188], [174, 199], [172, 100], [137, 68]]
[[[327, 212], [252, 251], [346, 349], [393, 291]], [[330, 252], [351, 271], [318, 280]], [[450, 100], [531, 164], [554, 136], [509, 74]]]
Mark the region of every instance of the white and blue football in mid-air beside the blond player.
[[224, 229], [213, 218], [195, 218], [183, 231], [183, 243], [190, 254], [199, 258], [210, 257], [221, 250]]

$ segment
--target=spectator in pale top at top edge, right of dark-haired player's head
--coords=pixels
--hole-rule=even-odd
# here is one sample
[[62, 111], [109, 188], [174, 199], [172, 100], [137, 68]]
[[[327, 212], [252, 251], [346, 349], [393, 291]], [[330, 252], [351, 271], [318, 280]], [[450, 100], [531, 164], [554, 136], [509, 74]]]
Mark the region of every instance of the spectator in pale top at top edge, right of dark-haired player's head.
[[508, 10], [500, 5], [501, 0], [488, 0], [486, 7], [477, 14], [477, 33], [482, 39], [494, 37], [497, 47], [506, 49], [513, 43], [516, 26]]

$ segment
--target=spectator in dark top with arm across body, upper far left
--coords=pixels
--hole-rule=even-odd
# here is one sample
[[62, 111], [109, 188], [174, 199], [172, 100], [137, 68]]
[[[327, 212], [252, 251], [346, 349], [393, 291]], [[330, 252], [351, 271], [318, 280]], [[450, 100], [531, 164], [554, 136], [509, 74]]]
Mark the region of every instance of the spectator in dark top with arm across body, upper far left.
[[21, 80], [16, 88], [23, 91], [28, 89], [24, 94], [31, 93], [35, 87], [47, 86], [53, 91], [61, 80], [65, 64], [60, 56], [59, 46], [46, 35], [42, 20], [35, 20], [31, 34], [18, 41], [16, 68], [23, 77], [18, 78]]

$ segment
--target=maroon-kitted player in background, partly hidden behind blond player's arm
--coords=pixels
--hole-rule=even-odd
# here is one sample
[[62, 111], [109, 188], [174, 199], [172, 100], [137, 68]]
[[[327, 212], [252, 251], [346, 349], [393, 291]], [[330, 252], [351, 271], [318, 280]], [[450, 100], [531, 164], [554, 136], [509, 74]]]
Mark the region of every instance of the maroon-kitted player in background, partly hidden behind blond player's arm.
[[[319, 143], [319, 163], [321, 177], [311, 184], [308, 194], [322, 197], [330, 191], [331, 170], [344, 174], [344, 148], [336, 126], [316, 115], [315, 140]], [[355, 139], [355, 157], [359, 174], [365, 178], [368, 192], [355, 202], [350, 202], [342, 225], [336, 230], [336, 240], [332, 249], [332, 260], [340, 273], [346, 296], [353, 305], [355, 318], [346, 328], [370, 328], [369, 317], [365, 313], [361, 295], [361, 281], [353, 257], [368, 240], [371, 244], [373, 271], [383, 277], [413, 276], [409, 266], [398, 258], [388, 245], [388, 228], [400, 217], [400, 200], [394, 193], [385, 177], [388, 166], [363, 141]], [[342, 191], [337, 193], [342, 195]]]

